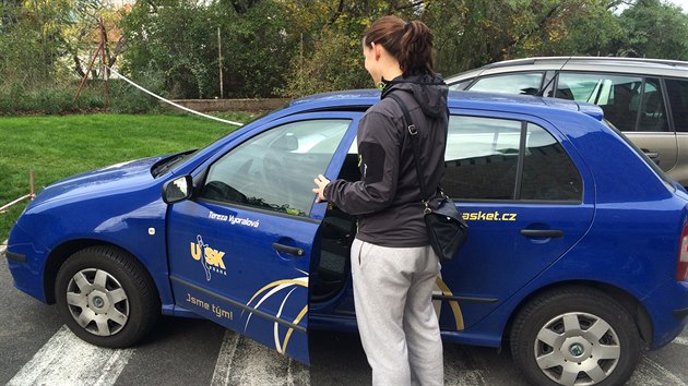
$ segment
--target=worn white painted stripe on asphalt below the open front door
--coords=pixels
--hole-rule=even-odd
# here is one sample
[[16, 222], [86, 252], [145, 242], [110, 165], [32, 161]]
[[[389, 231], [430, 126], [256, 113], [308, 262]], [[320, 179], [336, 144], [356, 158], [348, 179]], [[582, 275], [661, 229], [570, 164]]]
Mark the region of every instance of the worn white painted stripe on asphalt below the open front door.
[[309, 386], [307, 366], [227, 330], [217, 353], [212, 386]]

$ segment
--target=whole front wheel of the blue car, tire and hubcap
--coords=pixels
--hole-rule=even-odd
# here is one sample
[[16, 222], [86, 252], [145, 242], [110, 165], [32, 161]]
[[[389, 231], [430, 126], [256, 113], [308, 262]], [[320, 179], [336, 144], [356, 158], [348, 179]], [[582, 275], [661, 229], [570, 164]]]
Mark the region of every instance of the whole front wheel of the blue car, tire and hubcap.
[[155, 325], [161, 302], [153, 280], [129, 253], [91, 246], [58, 272], [56, 301], [67, 326], [96, 346], [124, 348]]

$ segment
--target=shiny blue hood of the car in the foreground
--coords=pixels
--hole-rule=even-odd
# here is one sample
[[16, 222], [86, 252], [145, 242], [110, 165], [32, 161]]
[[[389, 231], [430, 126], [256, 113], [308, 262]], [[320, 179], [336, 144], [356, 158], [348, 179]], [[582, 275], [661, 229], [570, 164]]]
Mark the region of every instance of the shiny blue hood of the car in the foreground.
[[45, 188], [29, 207], [56, 200], [84, 198], [91, 195], [104, 196], [140, 188], [153, 180], [151, 168], [165, 157], [131, 160], [68, 177]]

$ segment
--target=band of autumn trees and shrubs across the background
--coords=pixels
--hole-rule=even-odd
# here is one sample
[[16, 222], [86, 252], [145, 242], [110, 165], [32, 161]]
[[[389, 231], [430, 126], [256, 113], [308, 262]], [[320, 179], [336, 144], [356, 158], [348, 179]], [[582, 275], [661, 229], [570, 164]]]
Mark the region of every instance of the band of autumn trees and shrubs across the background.
[[[72, 104], [75, 79], [86, 71], [100, 41], [100, 16], [108, 65], [170, 99], [299, 97], [372, 86], [363, 69], [360, 38], [373, 20], [387, 14], [428, 24], [435, 34], [435, 70], [444, 75], [531, 56], [688, 60], [688, 14], [661, 0], [156, 0], [121, 9], [106, 4], [110, 2], [0, 2], [0, 113], [104, 108], [98, 81], [91, 81]], [[97, 77], [99, 60], [96, 68]], [[158, 101], [112, 81], [109, 107], [143, 112], [156, 109]]]

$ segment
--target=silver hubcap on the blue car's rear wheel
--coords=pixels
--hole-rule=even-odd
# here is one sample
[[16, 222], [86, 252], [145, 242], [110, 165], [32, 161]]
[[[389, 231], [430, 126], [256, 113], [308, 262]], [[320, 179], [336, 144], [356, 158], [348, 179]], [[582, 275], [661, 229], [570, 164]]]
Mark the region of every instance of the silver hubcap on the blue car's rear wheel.
[[558, 315], [538, 331], [534, 354], [542, 372], [560, 385], [593, 385], [606, 379], [619, 362], [621, 347], [614, 328], [598, 316]]

